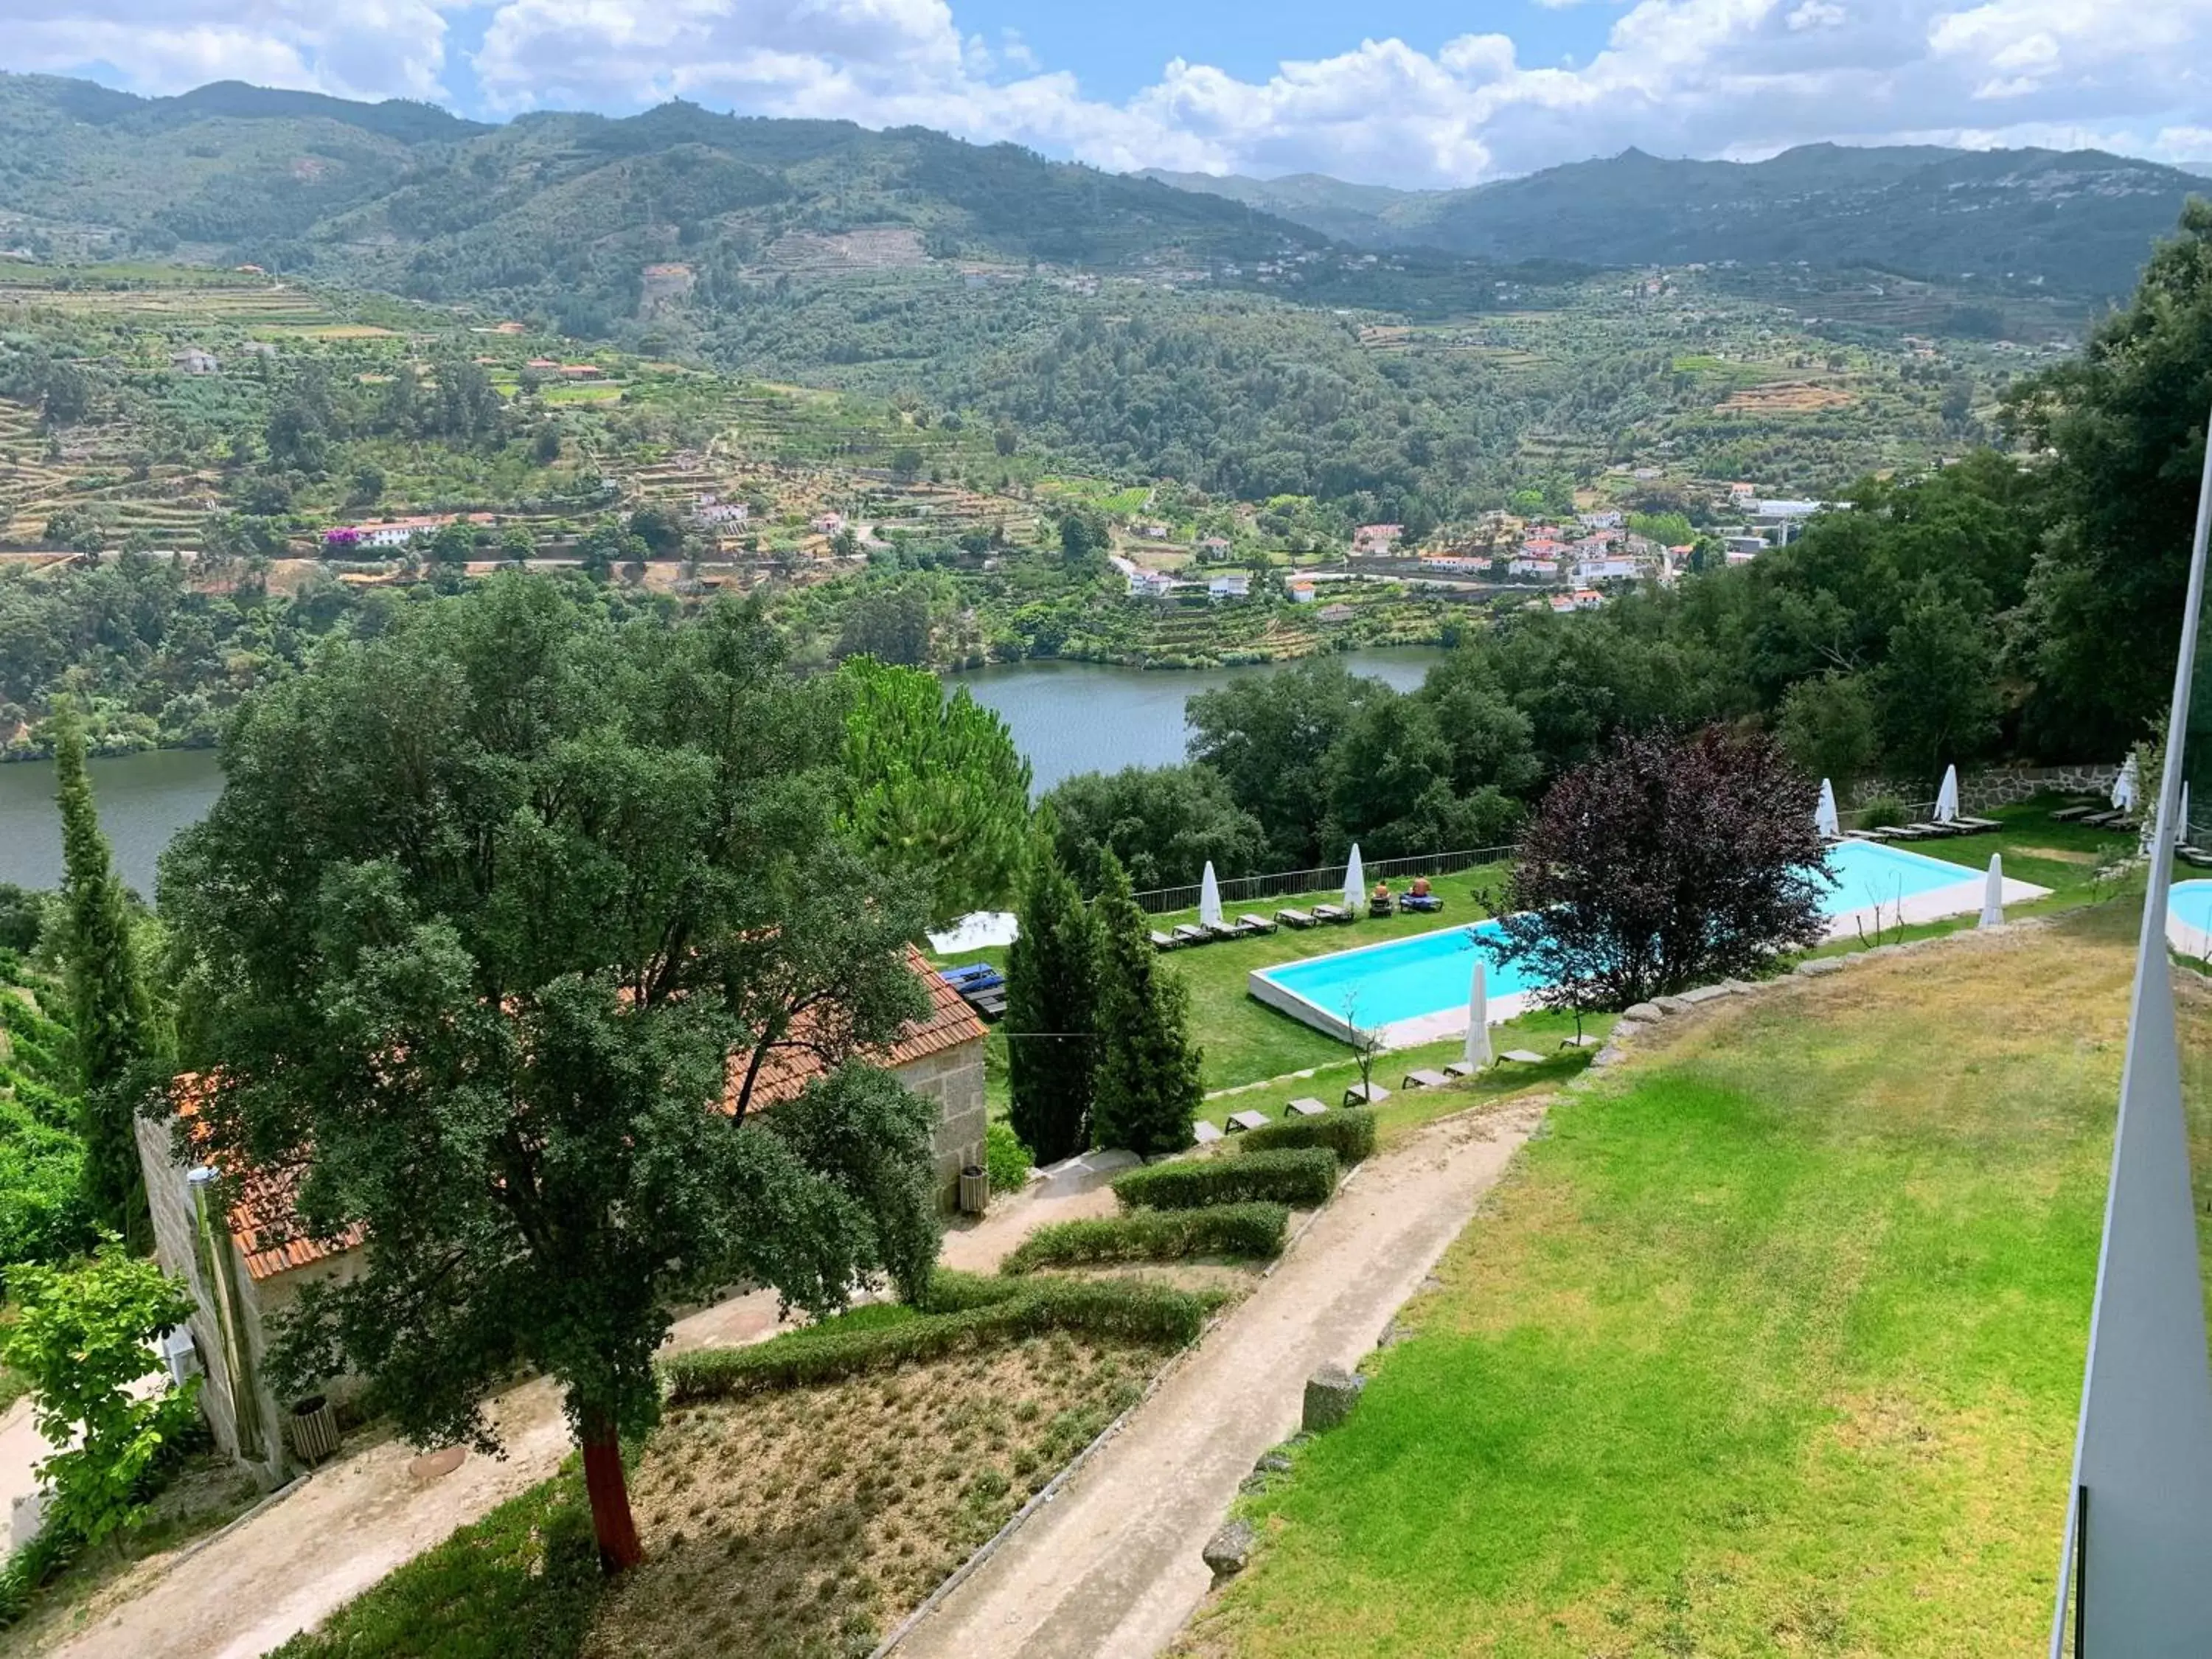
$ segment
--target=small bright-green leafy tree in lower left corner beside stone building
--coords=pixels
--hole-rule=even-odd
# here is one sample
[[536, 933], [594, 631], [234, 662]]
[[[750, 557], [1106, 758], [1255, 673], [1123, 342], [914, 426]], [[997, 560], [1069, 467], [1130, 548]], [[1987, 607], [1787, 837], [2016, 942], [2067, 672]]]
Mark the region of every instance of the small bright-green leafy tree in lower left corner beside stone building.
[[38, 1467], [53, 1489], [49, 1524], [97, 1544], [139, 1517], [155, 1458], [192, 1422], [199, 1378], [133, 1387], [159, 1374], [153, 1343], [190, 1318], [192, 1298], [113, 1237], [91, 1261], [13, 1267], [9, 1296], [0, 1363], [29, 1378], [31, 1422], [55, 1449]]

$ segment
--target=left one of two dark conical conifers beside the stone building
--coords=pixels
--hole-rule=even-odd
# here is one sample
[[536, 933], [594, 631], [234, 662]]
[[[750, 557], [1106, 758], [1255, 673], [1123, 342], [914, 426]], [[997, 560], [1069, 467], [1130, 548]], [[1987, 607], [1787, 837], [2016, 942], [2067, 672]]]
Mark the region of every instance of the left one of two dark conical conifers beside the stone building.
[[1037, 1164], [1091, 1146], [1091, 1079], [1097, 1071], [1097, 927], [1048, 836], [1040, 836], [1022, 885], [1022, 933], [1006, 951], [1009, 1113]]

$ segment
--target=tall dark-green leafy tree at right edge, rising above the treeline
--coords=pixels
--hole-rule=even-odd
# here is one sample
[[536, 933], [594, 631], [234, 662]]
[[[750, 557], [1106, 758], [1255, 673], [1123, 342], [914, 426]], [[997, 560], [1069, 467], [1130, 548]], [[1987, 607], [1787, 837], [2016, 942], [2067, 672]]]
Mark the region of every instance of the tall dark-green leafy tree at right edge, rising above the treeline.
[[2192, 199], [2135, 301], [2006, 407], [2017, 436], [2055, 451], [2026, 635], [2031, 721], [2051, 748], [2119, 754], [2172, 697], [2208, 409], [2212, 201]]

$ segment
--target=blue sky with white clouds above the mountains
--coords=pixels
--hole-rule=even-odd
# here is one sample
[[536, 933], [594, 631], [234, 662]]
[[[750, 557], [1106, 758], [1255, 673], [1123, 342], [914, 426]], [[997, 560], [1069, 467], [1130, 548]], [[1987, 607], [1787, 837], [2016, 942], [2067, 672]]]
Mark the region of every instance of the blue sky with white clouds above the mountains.
[[0, 0], [0, 69], [484, 119], [688, 97], [1405, 188], [1630, 144], [2212, 161], [2212, 0]]

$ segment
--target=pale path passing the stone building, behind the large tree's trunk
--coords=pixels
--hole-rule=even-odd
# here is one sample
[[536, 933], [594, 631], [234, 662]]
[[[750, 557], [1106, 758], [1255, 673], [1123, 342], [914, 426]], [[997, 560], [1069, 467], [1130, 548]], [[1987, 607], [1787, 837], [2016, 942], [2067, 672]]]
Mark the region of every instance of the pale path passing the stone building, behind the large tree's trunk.
[[[1110, 1212], [1104, 1186], [1022, 1194], [947, 1230], [942, 1259], [989, 1272], [1046, 1221]], [[670, 1347], [737, 1347], [776, 1329], [774, 1292], [757, 1292], [679, 1321]], [[197, 1551], [139, 1564], [100, 1593], [75, 1637], [53, 1630], [42, 1648], [66, 1659], [259, 1659], [557, 1471], [573, 1447], [551, 1383], [511, 1389], [493, 1418], [504, 1458], [469, 1453], [451, 1473], [422, 1475], [403, 1442], [345, 1455]]]

